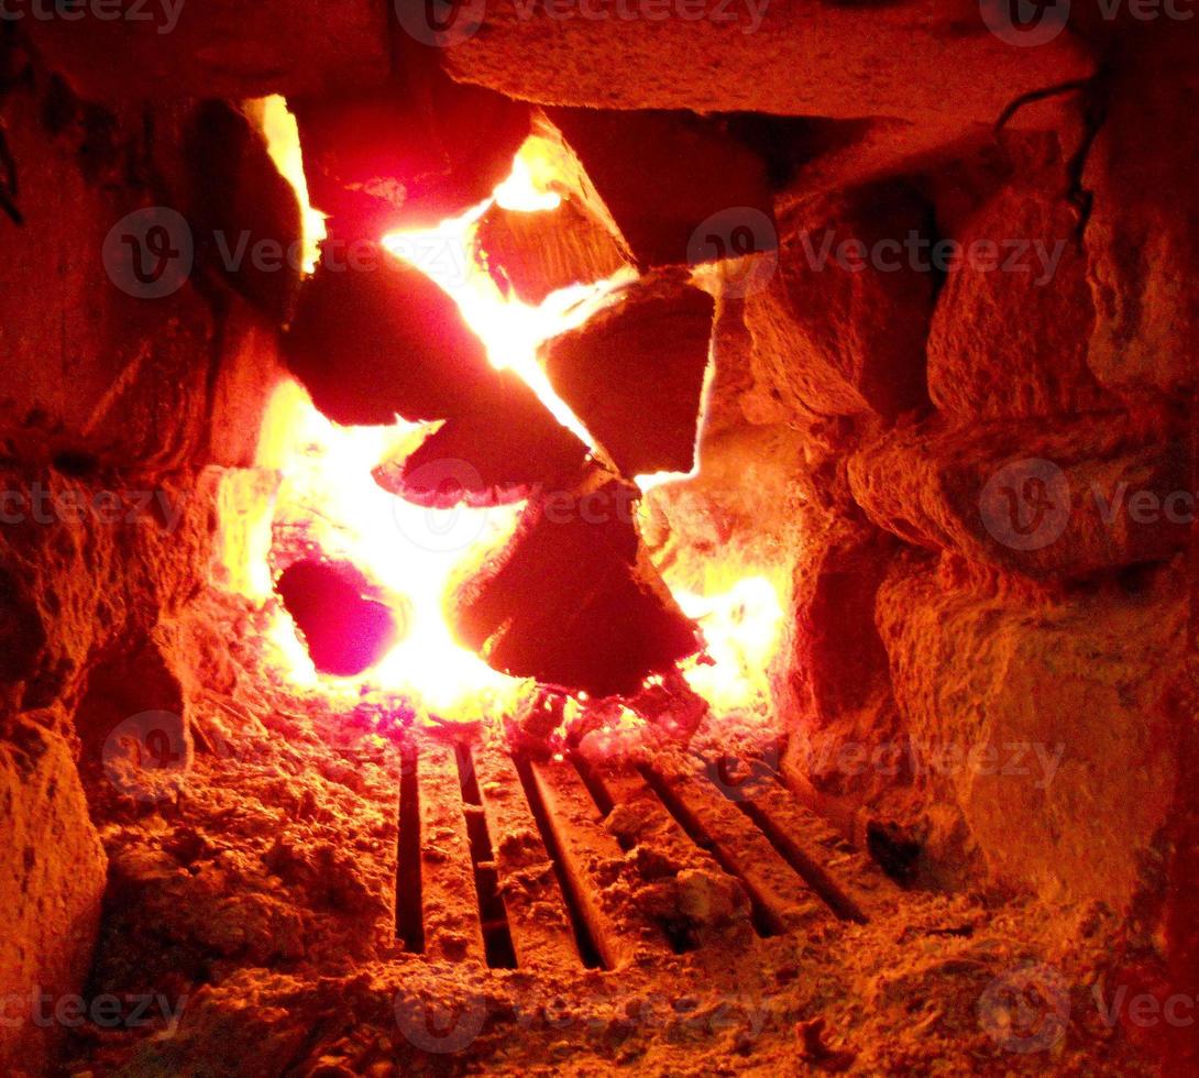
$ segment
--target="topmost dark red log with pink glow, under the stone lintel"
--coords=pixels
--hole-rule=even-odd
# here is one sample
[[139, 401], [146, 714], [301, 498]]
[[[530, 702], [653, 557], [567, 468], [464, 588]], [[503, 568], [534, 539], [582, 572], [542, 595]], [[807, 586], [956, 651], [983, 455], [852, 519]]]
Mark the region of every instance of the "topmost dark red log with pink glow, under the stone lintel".
[[313, 205], [355, 237], [459, 216], [507, 176], [530, 132], [526, 104], [410, 59], [381, 90], [295, 104]]

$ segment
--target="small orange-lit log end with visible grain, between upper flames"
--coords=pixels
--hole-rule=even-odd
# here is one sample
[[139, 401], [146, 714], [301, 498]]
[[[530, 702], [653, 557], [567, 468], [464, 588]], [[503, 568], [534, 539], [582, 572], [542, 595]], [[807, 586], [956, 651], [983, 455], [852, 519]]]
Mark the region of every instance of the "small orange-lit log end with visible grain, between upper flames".
[[493, 206], [475, 248], [500, 288], [535, 307], [560, 288], [603, 281], [627, 265], [611, 233], [573, 199], [540, 213]]

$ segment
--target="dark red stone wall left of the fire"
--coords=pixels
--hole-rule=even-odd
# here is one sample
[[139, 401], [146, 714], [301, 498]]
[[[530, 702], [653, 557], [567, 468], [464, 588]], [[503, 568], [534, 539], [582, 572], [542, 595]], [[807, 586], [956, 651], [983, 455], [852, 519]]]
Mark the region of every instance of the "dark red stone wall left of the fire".
[[[101, 107], [20, 47], [8, 24], [0, 49], [10, 163], [0, 213], [0, 1067], [44, 1073], [70, 1026], [55, 1007], [70, 1008], [84, 988], [100, 925], [106, 856], [89, 797], [109, 777], [104, 748], [147, 710], [174, 716], [169, 735], [187, 743], [175, 626], [205, 578], [219, 477], [253, 462], [278, 378], [278, 302], [264, 296], [297, 277], [246, 287], [198, 243], [191, 272], [150, 295], [113, 258], [113, 235], [144, 219], [129, 215], [165, 206], [233, 236], [287, 240], [299, 213], [248, 120], [229, 107], [219, 106], [225, 140], [197, 158], [189, 147], [213, 126], [211, 106]], [[234, 195], [216, 207], [198, 197], [210, 173]]]

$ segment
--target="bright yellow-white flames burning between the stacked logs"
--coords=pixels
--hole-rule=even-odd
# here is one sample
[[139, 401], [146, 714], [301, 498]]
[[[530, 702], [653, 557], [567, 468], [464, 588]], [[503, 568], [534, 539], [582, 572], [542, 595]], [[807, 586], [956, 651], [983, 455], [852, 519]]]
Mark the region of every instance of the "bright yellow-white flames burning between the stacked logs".
[[[294, 120], [281, 98], [272, 101], [278, 103], [269, 103], [264, 130], [275, 139], [272, 153], [281, 170], [307, 205], [302, 169], [297, 171]], [[291, 120], [290, 126], [287, 120]], [[547, 170], [537, 140], [530, 139], [494, 199], [523, 212], [553, 210], [560, 195], [549, 189]], [[633, 279], [633, 271], [598, 284], [562, 289], [540, 307], [510, 299], [472, 255], [474, 230], [492, 201], [435, 229], [391, 233], [382, 237], [384, 247], [452, 296], [487, 345], [492, 363], [518, 373], [560, 423], [598, 451], [585, 426], [554, 392], [537, 362], [537, 351], [544, 341], [602, 309], [622, 283]], [[324, 221], [311, 207], [305, 221], [306, 241], [314, 246]], [[273, 502], [261, 510], [267, 520], [251, 522], [243, 529], [251, 538], [229, 547], [234, 552], [230, 558], [247, 564], [225, 568], [227, 578], [237, 582], [230, 586], [276, 612], [266, 644], [293, 683], [348, 700], [363, 689], [375, 689], [402, 697], [410, 706], [441, 719], [470, 721], [510, 711], [534, 688], [496, 673], [459, 645], [445, 614], [451, 582], [512, 535], [524, 506], [429, 510], [380, 488], [372, 470], [384, 459], [411, 452], [434, 429], [436, 424], [399, 420], [387, 428], [338, 427], [320, 415], [297, 384], [284, 383], [270, 403], [258, 459], [260, 469], [277, 476], [277, 492]], [[688, 477], [643, 476], [639, 482], [651, 489]], [[384, 598], [404, 612], [402, 638], [366, 674], [353, 679], [318, 675], [290, 616], [278, 604], [271, 607], [272, 566], [289, 536], [293, 544], [302, 536], [324, 555], [353, 562]], [[688, 662], [683, 676], [718, 711], [769, 709], [765, 670], [781, 634], [778, 592], [761, 576], [722, 578], [719, 583], [719, 589], [711, 590], [675, 589], [680, 606], [699, 621], [707, 643], [707, 655]], [[582, 695], [572, 701], [576, 707], [586, 703]]]

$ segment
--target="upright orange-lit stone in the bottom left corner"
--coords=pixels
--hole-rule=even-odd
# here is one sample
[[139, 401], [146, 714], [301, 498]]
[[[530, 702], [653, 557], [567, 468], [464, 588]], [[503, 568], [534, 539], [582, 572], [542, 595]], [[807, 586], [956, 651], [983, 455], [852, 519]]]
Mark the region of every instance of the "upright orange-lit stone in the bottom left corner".
[[32, 995], [56, 1002], [82, 992], [107, 867], [71, 751], [56, 734], [22, 723], [0, 741], [0, 1066], [47, 1073], [66, 1030], [44, 1020]]

